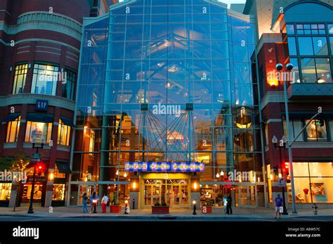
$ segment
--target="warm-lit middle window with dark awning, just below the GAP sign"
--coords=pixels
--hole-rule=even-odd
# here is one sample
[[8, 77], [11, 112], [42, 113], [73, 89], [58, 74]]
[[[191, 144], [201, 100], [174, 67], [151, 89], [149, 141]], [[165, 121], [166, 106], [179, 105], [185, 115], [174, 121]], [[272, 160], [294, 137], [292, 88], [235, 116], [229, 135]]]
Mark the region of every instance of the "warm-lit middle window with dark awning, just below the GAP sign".
[[51, 140], [52, 123], [27, 121], [25, 141], [32, 143], [47, 143]]

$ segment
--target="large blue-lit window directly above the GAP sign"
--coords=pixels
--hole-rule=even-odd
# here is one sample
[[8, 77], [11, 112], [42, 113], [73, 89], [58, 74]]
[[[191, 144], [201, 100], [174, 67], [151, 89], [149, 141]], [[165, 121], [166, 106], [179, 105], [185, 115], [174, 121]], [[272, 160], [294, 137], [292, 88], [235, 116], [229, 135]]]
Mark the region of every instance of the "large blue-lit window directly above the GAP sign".
[[35, 64], [31, 93], [55, 96], [58, 71], [59, 68], [53, 65]]

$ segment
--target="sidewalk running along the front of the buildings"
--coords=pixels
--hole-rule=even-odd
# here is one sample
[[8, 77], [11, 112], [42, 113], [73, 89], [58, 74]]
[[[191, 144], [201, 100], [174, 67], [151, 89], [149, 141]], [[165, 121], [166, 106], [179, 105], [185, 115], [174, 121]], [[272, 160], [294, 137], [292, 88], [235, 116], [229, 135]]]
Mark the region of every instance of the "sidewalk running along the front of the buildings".
[[[101, 213], [101, 208], [98, 207], [96, 214], [83, 213], [81, 207], [53, 207], [53, 212], [49, 212], [47, 207], [34, 207], [34, 214], [27, 214], [28, 207], [17, 207], [13, 212], [12, 208], [0, 207], [0, 216], [11, 217], [34, 217], [34, 218], [108, 218], [115, 219], [272, 219], [275, 216], [274, 210], [265, 207], [257, 207], [254, 209], [249, 208], [235, 208], [232, 215], [222, 213], [221, 208], [215, 208], [213, 214], [202, 214], [197, 210], [197, 215], [192, 214], [190, 209], [170, 209], [170, 214], [151, 214], [150, 208], [143, 210], [130, 210], [129, 214], [124, 214], [124, 207], [120, 214], [110, 213], [110, 208], [107, 208], [107, 213]], [[289, 215], [284, 215], [283, 218], [293, 217], [313, 217], [312, 210], [298, 210], [298, 214], [292, 214], [289, 210]], [[317, 216], [329, 216], [333, 218], [333, 209], [318, 210]]]

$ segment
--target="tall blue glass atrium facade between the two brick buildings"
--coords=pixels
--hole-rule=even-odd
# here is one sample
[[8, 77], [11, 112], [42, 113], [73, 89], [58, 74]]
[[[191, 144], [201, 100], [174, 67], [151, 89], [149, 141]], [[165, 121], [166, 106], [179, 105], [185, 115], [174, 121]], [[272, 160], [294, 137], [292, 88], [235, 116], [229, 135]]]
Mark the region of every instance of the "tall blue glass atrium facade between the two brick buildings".
[[[115, 193], [120, 203], [135, 192], [138, 207], [190, 207], [194, 193], [203, 203], [221, 205], [231, 193], [236, 206], [260, 205], [253, 52], [249, 16], [218, 1], [124, 1], [87, 18], [71, 204], [98, 191]], [[133, 162], [204, 166], [125, 169]]]

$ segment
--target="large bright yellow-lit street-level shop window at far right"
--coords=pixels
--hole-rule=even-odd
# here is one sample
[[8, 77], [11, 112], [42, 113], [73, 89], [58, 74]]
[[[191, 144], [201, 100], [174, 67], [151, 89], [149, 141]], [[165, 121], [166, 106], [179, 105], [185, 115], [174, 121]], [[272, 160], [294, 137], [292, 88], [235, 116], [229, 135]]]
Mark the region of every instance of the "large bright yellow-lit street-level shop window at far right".
[[294, 162], [296, 203], [332, 203], [332, 162]]

